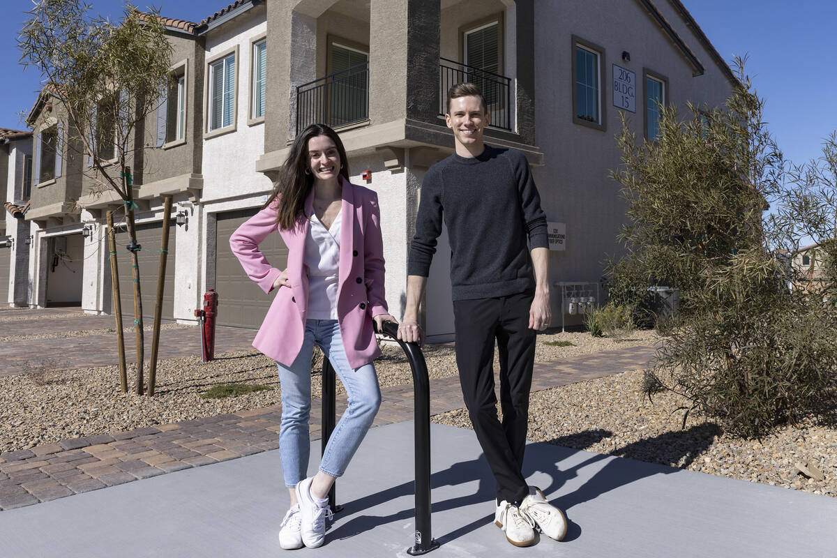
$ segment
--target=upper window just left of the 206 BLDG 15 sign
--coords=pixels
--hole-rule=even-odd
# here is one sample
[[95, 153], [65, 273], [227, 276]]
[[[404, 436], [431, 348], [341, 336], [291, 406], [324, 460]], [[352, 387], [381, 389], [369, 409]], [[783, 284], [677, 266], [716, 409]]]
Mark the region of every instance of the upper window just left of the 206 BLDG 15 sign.
[[573, 36], [573, 122], [604, 130], [604, 49]]

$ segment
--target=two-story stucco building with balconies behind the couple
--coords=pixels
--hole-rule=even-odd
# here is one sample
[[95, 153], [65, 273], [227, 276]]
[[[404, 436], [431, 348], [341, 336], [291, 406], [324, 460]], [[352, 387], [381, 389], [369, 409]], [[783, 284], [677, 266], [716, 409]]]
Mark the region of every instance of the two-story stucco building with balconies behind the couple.
[[[179, 224], [172, 225], [163, 315], [193, 320], [203, 291], [213, 288], [219, 323], [245, 327], [259, 325], [269, 299], [244, 276], [229, 234], [264, 204], [290, 141], [312, 122], [340, 132], [352, 180], [378, 194], [387, 298], [398, 317], [422, 178], [453, 152], [446, 91], [461, 81], [479, 84], [491, 115], [486, 141], [522, 151], [541, 192], [554, 241], [552, 310], [561, 323], [561, 285], [586, 283], [596, 294], [604, 259], [620, 253], [625, 204], [608, 177], [619, 166], [620, 116], [654, 141], [660, 103], [722, 105], [736, 83], [680, 0], [237, 0], [200, 23], [166, 25], [175, 79], [134, 138], [146, 146], [133, 166], [138, 240], [159, 246], [162, 195], [172, 194]], [[42, 95], [39, 103], [47, 102]], [[33, 117], [42, 138], [36, 156], [49, 142], [48, 120]], [[49, 273], [68, 274], [64, 268], [81, 255], [75, 273], [84, 280], [72, 295], [85, 310], [109, 312], [104, 212], [120, 201], [91, 196], [84, 161], [72, 163], [80, 167], [78, 184], [75, 172], [47, 173], [33, 187], [40, 197], [33, 192], [27, 213], [37, 223], [30, 304], [69, 299], [49, 289], [44, 269], [61, 254]], [[73, 196], [77, 204], [69, 203]], [[278, 235], [263, 248], [272, 264], [284, 265]], [[146, 253], [141, 264], [149, 296], [157, 256]], [[76, 289], [75, 279], [68, 275], [61, 288]], [[150, 299], [145, 308], [151, 312]], [[445, 233], [424, 309], [431, 340], [452, 338]]]

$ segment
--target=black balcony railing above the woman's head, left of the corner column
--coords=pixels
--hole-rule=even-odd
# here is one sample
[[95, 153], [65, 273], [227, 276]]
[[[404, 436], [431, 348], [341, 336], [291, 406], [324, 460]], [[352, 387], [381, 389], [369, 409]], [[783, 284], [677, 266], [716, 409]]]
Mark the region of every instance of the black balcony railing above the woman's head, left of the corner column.
[[332, 128], [369, 118], [369, 63], [296, 87], [296, 133], [320, 123]]

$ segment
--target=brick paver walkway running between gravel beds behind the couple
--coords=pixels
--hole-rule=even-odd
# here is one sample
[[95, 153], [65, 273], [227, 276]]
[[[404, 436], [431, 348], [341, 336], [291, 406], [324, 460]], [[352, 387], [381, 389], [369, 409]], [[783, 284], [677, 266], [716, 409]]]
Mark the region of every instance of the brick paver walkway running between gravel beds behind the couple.
[[[645, 366], [654, 349], [634, 346], [562, 361], [538, 363], [532, 391], [619, 374]], [[413, 386], [386, 387], [374, 426], [413, 418]], [[337, 400], [337, 412], [346, 406]], [[459, 380], [430, 384], [430, 412], [465, 407]], [[146, 479], [183, 468], [217, 463], [279, 447], [281, 407], [199, 418], [129, 432], [72, 438], [0, 453], [0, 509], [12, 509]], [[321, 401], [311, 406], [311, 437], [320, 438]]]

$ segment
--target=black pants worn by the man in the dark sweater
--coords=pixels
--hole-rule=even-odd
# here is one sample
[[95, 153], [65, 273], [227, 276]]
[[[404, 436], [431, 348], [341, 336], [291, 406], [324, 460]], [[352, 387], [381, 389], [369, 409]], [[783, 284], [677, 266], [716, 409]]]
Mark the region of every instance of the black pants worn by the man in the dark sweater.
[[[529, 489], [521, 473], [529, 427], [535, 331], [530, 330], [532, 294], [454, 301], [456, 364], [465, 406], [491, 472], [497, 500], [519, 504]], [[500, 351], [500, 402], [494, 393], [494, 342]]]

